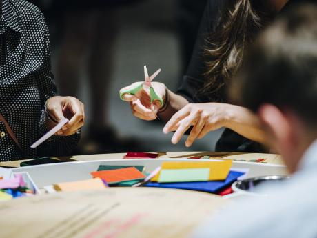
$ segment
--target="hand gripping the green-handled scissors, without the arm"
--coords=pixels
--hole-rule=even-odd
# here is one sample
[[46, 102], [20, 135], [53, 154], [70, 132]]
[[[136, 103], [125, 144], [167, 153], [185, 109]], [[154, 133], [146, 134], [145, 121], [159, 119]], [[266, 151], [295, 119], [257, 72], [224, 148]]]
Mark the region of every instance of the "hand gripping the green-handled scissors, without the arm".
[[[136, 88], [141, 83], [143, 82], [132, 83], [132, 85], [122, 88], [120, 92], [123, 90]], [[165, 103], [165, 95], [167, 90], [166, 86], [163, 83], [152, 82], [152, 87], [154, 88], [156, 94], [161, 97]], [[123, 99], [130, 102], [130, 107], [135, 117], [146, 121], [152, 121], [156, 119], [156, 113], [162, 107], [158, 100], [155, 100], [153, 103], [151, 103], [150, 90], [148, 88], [145, 89], [144, 87], [142, 90], [139, 90], [136, 95], [130, 95], [126, 93], [123, 95]]]

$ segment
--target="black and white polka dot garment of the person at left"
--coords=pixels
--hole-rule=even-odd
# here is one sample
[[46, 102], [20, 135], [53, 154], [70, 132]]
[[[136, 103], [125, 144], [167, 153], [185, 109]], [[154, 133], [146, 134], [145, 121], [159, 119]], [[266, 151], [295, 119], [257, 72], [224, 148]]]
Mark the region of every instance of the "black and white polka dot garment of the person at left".
[[0, 122], [0, 161], [70, 155], [79, 133], [54, 136], [36, 149], [30, 148], [48, 131], [45, 102], [57, 95], [43, 14], [23, 0], [0, 1], [0, 113], [23, 148], [21, 152]]

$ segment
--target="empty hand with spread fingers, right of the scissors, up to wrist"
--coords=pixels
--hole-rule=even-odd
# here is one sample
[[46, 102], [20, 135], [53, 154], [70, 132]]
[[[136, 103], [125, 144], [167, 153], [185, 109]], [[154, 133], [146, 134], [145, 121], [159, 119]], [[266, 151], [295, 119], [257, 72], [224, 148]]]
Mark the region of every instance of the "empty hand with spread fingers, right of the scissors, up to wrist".
[[224, 103], [187, 104], [166, 123], [163, 132], [167, 134], [175, 131], [172, 143], [176, 144], [190, 126], [194, 126], [185, 143], [185, 146], [190, 147], [195, 139], [201, 139], [208, 132], [226, 126], [229, 106], [229, 104]]

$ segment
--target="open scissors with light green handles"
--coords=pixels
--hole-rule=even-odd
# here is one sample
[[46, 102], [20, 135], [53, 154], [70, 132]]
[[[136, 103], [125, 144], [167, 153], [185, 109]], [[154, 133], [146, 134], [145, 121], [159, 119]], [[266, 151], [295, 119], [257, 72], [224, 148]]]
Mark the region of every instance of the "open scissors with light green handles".
[[159, 73], [161, 72], [161, 68], [159, 70], [157, 70], [156, 72], [154, 72], [154, 74], [149, 77], [149, 73], [147, 72], [147, 68], [146, 66], [144, 66], [144, 77], [145, 77], [145, 81], [140, 83], [138, 86], [136, 86], [135, 88], [132, 89], [128, 89], [128, 90], [121, 90], [120, 91], [120, 98], [121, 100], [124, 101], [123, 99], [123, 95], [130, 94], [130, 95], [136, 95], [136, 93], [138, 93], [140, 90], [144, 89], [146, 90], [147, 88], [150, 89], [150, 101], [151, 103], [153, 103], [153, 101], [159, 101], [161, 103], [161, 107], [164, 104], [163, 99], [161, 99], [161, 97], [159, 97], [159, 95], [156, 94], [153, 86], [152, 86], [152, 81], [153, 79], [159, 75]]

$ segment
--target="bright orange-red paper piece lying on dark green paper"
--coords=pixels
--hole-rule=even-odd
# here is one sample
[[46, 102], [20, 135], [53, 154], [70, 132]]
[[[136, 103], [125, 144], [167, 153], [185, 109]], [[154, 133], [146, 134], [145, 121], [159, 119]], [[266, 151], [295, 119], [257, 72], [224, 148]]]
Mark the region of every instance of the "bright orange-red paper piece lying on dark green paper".
[[131, 181], [144, 179], [145, 175], [134, 167], [120, 168], [117, 170], [104, 170], [92, 172], [93, 177], [99, 177], [105, 180], [108, 184], [116, 184], [123, 181]]

